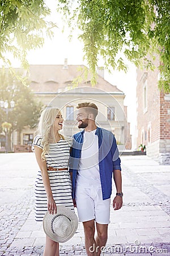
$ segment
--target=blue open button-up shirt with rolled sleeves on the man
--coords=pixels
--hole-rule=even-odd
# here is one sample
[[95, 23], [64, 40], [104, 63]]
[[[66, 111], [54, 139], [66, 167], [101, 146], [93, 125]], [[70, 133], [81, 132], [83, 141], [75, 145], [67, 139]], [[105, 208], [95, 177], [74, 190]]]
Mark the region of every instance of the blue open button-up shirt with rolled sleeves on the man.
[[[84, 130], [74, 134], [69, 159], [69, 171], [73, 172], [73, 199], [75, 198], [76, 173], [78, 171], [79, 159], [81, 157]], [[116, 139], [111, 131], [97, 127], [96, 133], [99, 139], [99, 171], [103, 200], [111, 197], [112, 173], [114, 170], [121, 171], [121, 160], [116, 144]]]

